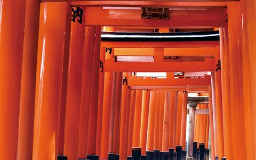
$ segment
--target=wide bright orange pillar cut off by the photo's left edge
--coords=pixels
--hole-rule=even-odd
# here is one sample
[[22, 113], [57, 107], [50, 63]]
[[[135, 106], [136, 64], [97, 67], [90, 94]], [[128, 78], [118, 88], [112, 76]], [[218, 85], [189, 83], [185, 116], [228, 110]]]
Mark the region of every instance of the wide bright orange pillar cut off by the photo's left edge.
[[17, 158], [25, 10], [24, 1], [0, 1], [0, 159]]

